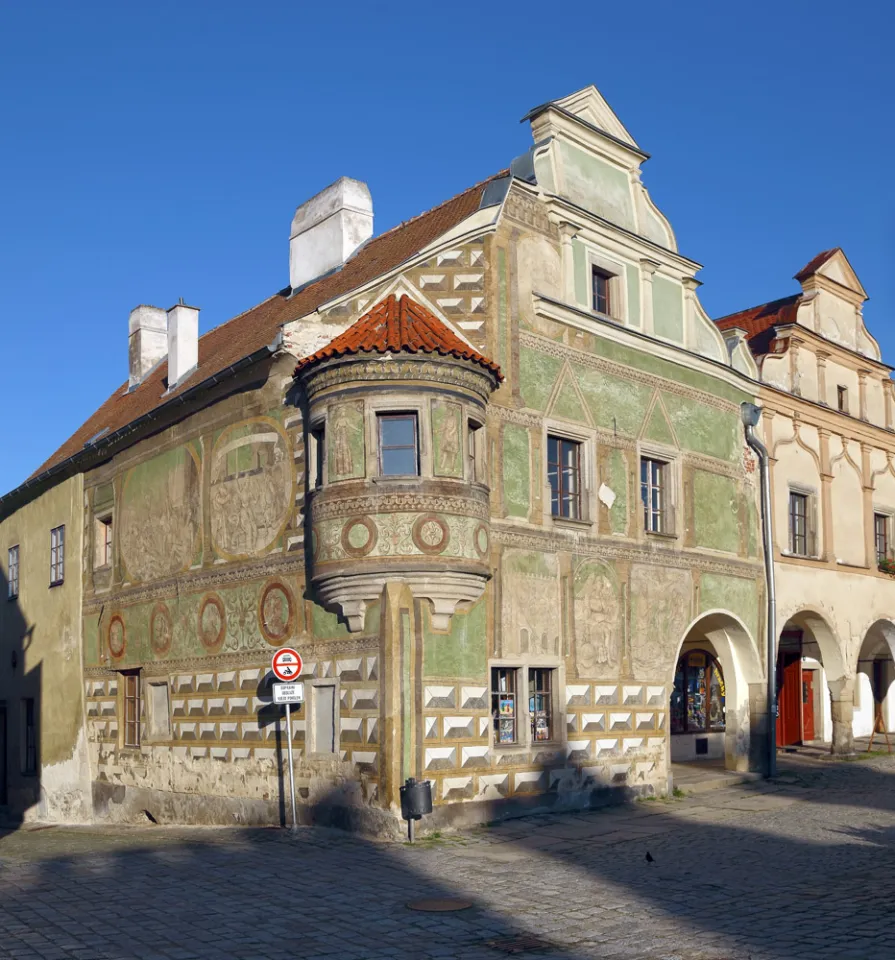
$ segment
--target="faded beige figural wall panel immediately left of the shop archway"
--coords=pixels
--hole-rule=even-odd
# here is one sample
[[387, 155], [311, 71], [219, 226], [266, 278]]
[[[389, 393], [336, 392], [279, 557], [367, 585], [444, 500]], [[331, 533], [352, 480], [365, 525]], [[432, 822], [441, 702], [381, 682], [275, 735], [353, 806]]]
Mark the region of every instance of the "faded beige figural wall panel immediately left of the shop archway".
[[631, 568], [631, 658], [636, 676], [665, 676], [690, 623], [693, 580], [688, 570]]

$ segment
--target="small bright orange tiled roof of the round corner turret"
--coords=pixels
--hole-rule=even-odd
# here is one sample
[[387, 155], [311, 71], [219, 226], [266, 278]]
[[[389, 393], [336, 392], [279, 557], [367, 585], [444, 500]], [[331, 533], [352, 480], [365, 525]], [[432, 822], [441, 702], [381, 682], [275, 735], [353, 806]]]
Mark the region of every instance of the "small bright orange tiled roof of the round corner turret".
[[296, 374], [321, 360], [355, 353], [440, 353], [472, 360], [503, 379], [500, 367], [448, 329], [406, 294], [380, 301], [331, 343], [298, 362]]

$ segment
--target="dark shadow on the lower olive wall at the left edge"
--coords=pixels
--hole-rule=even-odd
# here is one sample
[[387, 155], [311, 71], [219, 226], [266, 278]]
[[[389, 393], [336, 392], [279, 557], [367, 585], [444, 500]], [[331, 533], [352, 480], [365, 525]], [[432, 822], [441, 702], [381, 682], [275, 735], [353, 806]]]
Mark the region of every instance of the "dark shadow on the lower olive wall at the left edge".
[[34, 632], [0, 570], [0, 826], [15, 829], [40, 803], [42, 665], [25, 669]]

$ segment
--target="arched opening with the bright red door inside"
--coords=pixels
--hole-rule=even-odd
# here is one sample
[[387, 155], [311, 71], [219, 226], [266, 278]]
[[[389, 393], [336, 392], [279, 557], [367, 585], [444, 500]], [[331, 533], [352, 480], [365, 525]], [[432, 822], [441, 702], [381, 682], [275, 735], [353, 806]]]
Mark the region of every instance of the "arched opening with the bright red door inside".
[[777, 641], [777, 746], [831, 743], [851, 691], [847, 680], [842, 650], [823, 616], [802, 610], [786, 620]]

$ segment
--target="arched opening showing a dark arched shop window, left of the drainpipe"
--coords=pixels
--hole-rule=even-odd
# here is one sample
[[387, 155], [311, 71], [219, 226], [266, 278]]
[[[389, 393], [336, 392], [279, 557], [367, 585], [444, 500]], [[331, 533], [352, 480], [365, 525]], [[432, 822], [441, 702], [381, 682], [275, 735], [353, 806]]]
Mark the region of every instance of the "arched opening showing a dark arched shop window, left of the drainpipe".
[[720, 610], [699, 617], [684, 634], [673, 671], [671, 762], [755, 768], [750, 687], [760, 690], [763, 680], [755, 644], [742, 621]]

